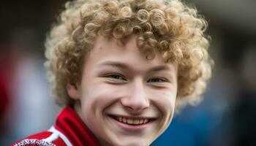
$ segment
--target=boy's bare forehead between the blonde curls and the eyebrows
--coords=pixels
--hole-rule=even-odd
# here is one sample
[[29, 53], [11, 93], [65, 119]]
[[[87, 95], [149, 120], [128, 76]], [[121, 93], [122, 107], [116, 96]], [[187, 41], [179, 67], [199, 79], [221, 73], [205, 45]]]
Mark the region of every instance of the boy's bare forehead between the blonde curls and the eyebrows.
[[116, 62], [129, 64], [137, 69], [149, 69], [156, 66], [173, 68], [173, 64], [165, 63], [160, 53], [154, 53], [154, 58], [152, 59], [148, 59], [147, 55], [148, 53], [138, 48], [136, 36], [129, 37], [125, 42], [99, 36], [86, 56], [86, 64], [96, 66], [106, 62]]

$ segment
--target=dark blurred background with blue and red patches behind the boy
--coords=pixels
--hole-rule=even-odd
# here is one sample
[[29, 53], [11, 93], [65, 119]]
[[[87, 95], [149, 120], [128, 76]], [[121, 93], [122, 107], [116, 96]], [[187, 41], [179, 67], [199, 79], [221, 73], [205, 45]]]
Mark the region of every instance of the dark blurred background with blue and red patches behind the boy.
[[[59, 107], [43, 67], [45, 34], [66, 0], [0, 4], [0, 145], [50, 128]], [[213, 78], [152, 145], [256, 145], [256, 1], [191, 0], [208, 20]]]

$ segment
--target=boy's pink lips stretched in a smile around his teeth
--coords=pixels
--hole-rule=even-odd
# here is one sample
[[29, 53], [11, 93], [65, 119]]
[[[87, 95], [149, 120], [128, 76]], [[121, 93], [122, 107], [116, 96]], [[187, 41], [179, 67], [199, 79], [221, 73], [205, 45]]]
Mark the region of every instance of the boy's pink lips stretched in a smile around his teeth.
[[[155, 118], [149, 118], [151, 119], [150, 121], [148, 121], [148, 123], [143, 123], [140, 125], [129, 125], [128, 123], [121, 123], [118, 120], [116, 120], [116, 118], [114, 118], [114, 116], [116, 115], [108, 115], [108, 117], [110, 118], [110, 120], [113, 121], [113, 123], [115, 123], [118, 127], [124, 129], [124, 131], [134, 131], [134, 132], [140, 132], [145, 130], [146, 128], [148, 128], [149, 126], [152, 125], [152, 123], [154, 123], [154, 120], [156, 120]], [[127, 116], [121, 116], [121, 117], [127, 117]], [[138, 117], [129, 117], [129, 118], [138, 118]]]

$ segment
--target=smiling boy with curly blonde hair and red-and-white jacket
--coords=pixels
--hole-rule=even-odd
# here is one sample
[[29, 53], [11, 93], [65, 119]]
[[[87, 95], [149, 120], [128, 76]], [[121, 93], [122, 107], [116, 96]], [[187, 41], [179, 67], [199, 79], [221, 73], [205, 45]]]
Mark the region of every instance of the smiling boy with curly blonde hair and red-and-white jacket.
[[175, 108], [200, 101], [211, 76], [205, 29], [178, 0], [67, 2], [45, 53], [64, 109], [15, 145], [150, 145]]

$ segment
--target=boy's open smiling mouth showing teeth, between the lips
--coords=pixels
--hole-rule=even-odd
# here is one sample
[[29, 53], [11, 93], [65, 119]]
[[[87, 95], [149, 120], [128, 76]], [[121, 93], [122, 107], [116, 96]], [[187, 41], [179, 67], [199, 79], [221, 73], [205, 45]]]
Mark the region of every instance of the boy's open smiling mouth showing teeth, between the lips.
[[151, 123], [155, 118], [129, 118], [116, 115], [110, 115], [111, 118], [117, 120], [120, 123], [125, 123], [130, 126], [140, 126], [146, 123]]

